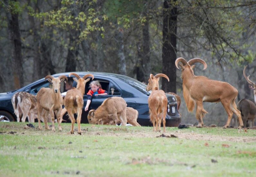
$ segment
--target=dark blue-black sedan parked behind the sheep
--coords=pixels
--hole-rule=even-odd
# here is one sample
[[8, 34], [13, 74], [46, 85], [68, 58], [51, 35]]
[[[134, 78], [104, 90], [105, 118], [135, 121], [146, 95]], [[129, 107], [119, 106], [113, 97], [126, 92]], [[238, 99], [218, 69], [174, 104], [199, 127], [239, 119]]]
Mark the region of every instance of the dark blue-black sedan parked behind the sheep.
[[[75, 72], [81, 77], [83, 77], [86, 74], [89, 74], [89, 72]], [[68, 79], [72, 79], [71, 76], [68, 76], [69, 73], [59, 73], [52, 75], [53, 77], [58, 77], [60, 75], [65, 75], [68, 77]], [[122, 97], [125, 99], [127, 103], [127, 107], [133, 107], [134, 109], [137, 109], [139, 112], [138, 115], [138, 123], [142, 126], [152, 126], [152, 124], [149, 122], [149, 108], [148, 108], [148, 96], [150, 95], [150, 92], [146, 90], [146, 85], [132, 79], [127, 76], [119, 75], [119, 74], [112, 74], [112, 73], [102, 73], [102, 72], [90, 72], [90, 74], [94, 75], [94, 80], [99, 80], [102, 89], [106, 90], [108, 92], [108, 95], [102, 95], [102, 96], [93, 96], [92, 101], [89, 107], [90, 109], [97, 109], [101, 103], [109, 97]], [[91, 81], [91, 80], [90, 80]], [[87, 102], [87, 95], [86, 93], [89, 91], [89, 82], [87, 82], [85, 87], [85, 95], [83, 97], [84, 99], [84, 107]], [[74, 83], [75, 84], [75, 83]], [[73, 84], [73, 85], [74, 85]], [[2, 117], [2, 121], [15, 121], [16, 116], [14, 114], [14, 109], [12, 106], [11, 98], [16, 92], [24, 91], [28, 92], [30, 94], [36, 95], [37, 92], [40, 90], [40, 88], [43, 87], [51, 87], [50, 83], [48, 81], [45, 81], [45, 79], [37, 80], [23, 88], [20, 88], [18, 90], [14, 90], [7, 93], [1, 93], [0, 94], [0, 117]], [[65, 92], [64, 82], [61, 84], [61, 93]], [[166, 94], [168, 98], [168, 108], [167, 108], [167, 114], [166, 114], [166, 126], [178, 126], [180, 124], [180, 115], [177, 111], [177, 100], [174, 96]], [[88, 123], [87, 115], [88, 112], [84, 111], [82, 112], [82, 119], [81, 123]], [[69, 119], [67, 117], [67, 114], [63, 116], [64, 120]]]

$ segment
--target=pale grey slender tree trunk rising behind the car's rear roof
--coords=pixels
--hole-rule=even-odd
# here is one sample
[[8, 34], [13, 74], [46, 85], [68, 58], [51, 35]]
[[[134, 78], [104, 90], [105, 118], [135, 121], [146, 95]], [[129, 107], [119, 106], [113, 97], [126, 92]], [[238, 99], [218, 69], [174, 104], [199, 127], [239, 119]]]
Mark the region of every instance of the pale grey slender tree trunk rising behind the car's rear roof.
[[119, 59], [119, 74], [126, 75], [126, 61], [124, 55], [124, 30], [119, 28], [118, 33], [116, 35], [117, 47], [118, 47], [118, 59]]

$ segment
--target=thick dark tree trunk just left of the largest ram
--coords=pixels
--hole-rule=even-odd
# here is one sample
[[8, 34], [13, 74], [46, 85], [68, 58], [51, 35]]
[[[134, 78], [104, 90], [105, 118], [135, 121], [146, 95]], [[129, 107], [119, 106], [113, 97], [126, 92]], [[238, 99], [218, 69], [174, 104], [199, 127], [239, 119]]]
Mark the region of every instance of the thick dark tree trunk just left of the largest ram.
[[[174, 3], [176, 0], [173, 1]], [[164, 1], [163, 10], [163, 74], [166, 74], [170, 82], [162, 79], [162, 90], [176, 93], [176, 53], [177, 53], [177, 7], [172, 6], [170, 0]]]

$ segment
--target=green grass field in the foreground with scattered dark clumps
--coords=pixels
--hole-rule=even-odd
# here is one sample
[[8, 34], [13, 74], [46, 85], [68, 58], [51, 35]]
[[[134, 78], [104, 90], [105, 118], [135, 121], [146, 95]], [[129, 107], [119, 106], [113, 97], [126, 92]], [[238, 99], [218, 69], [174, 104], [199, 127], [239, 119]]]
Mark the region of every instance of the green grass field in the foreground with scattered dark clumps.
[[[254, 176], [256, 130], [0, 122], [0, 176]], [[57, 126], [57, 124], [55, 124]], [[56, 128], [56, 127], [55, 127]], [[77, 125], [75, 124], [75, 128]], [[58, 128], [57, 128], [58, 129]]]

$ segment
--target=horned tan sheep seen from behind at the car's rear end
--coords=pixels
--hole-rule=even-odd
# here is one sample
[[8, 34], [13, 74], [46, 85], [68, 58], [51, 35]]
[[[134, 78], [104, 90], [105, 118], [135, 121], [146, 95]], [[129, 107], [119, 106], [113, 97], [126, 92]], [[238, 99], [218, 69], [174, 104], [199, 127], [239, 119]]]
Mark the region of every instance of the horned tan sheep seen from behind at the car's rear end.
[[[150, 114], [150, 122], [153, 123], [153, 131], [161, 131], [161, 122], [163, 119], [164, 132], [166, 132], [165, 123], [166, 123], [166, 111], [168, 100], [163, 90], [158, 90], [159, 88], [159, 79], [164, 77], [168, 80], [169, 78], [165, 74], [150, 74], [148, 79], [148, 84], [146, 90], [152, 90], [151, 94], [148, 97], [148, 107]], [[159, 130], [158, 130], [159, 128]]]

